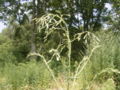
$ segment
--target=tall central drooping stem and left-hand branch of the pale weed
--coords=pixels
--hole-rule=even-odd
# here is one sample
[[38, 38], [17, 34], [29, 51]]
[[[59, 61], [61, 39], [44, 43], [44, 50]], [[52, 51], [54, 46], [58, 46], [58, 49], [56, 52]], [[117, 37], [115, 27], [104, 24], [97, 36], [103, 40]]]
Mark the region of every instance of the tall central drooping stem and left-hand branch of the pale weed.
[[[57, 86], [60, 87], [60, 85], [57, 83], [57, 80], [55, 78], [55, 75], [53, 73], [53, 70], [50, 68], [49, 63], [53, 60], [54, 57], [56, 57], [57, 60], [60, 60], [60, 53], [62, 52], [62, 50], [67, 47], [68, 48], [68, 87], [69, 87], [69, 82], [70, 82], [70, 76], [71, 76], [71, 39], [70, 39], [70, 34], [69, 34], [69, 29], [68, 29], [68, 25], [65, 22], [65, 20], [63, 19], [64, 15], [58, 15], [58, 14], [47, 14], [47, 15], [43, 15], [41, 18], [37, 18], [35, 19], [37, 24], [38, 24], [38, 31], [45, 32], [45, 37], [44, 37], [44, 41], [47, 41], [47, 38], [54, 32], [59, 32], [61, 34], [60, 37], [62, 37], [62, 41], [59, 43], [59, 45], [57, 46], [57, 48], [51, 48], [49, 50], [49, 53], [53, 53], [50, 60], [46, 59], [46, 56], [42, 55], [42, 54], [38, 54], [38, 53], [32, 53], [30, 55], [37, 55], [40, 56], [42, 58], [42, 60], [44, 61], [46, 67], [48, 68], [48, 70], [51, 73], [51, 76], [53, 77], [54, 81], [56, 82]], [[62, 44], [62, 42], [65, 42]]]

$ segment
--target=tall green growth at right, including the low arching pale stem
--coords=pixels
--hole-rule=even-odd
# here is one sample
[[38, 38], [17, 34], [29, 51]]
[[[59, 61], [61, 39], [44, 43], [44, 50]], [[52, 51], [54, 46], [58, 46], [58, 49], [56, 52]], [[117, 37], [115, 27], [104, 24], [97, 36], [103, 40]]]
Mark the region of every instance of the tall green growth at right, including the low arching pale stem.
[[[115, 75], [120, 75], [120, 38], [119, 34], [115, 35], [111, 31], [97, 32], [96, 35], [100, 39], [100, 48], [98, 48], [91, 57], [90, 72], [94, 81], [103, 84], [111, 81], [113, 83], [109, 89], [100, 90], [119, 90], [120, 81]], [[88, 69], [87, 69], [88, 70]], [[89, 71], [88, 71], [89, 72]], [[96, 79], [95, 79], [96, 77]], [[110, 80], [109, 80], [110, 79]], [[117, 79], [117, 80], [116, 80]]]

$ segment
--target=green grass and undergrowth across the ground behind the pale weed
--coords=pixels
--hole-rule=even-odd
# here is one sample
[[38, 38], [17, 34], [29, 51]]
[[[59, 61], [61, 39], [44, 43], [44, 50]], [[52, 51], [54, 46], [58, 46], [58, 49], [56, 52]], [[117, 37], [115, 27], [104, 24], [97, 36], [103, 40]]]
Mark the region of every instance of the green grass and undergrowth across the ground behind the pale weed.
[[[96, 36], [100, 39], [100, 47], [93, 52], [86, 66], [76, 77], [74, 88], [74, 72], [71, 72], [69, 90], [120, 90], [119, 38], [105, 31], [96, 33]], [[42, 61], [17, 64], [5, 62], [0, 67], [0, 90], [67, 90], [68, 73], [64, 70], [66, 68], [55, 64], [52, 68], [59, 87], [52, 80], [51, 73]]]

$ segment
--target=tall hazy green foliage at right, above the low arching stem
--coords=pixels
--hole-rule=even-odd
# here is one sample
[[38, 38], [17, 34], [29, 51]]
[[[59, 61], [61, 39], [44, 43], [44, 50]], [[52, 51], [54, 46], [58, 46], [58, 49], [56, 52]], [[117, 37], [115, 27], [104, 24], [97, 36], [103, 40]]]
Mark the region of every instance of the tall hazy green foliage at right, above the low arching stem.
[[[112, 32], [99, 32], [97, 33], [100, 38], [100, 48], [94, 53], [92, 57], [93, 67], [97, 65], [98, 67], [94, 67], [96, 71], [102, 70], [106, 67], [116, 68], [115, 63], [119, 64], [119, 37], [114, 35]], [[102, 37], [101, 37], [102, 35]], [[118, 35], [119, 36], [119, 35]], [[99, 62], [99, 63], [98, 63]], [[117, 68], [118, 69], [118, 68]]]

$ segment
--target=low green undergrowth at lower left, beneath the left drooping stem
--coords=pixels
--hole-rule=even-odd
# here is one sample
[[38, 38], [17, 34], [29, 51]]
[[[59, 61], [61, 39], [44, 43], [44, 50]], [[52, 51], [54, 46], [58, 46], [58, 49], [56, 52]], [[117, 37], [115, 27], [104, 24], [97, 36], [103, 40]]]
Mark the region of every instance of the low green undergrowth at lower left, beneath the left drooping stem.
[[33, 61], [18, 65], [8, 63], [0, 76], [0, 79], [5, 78], [5, 81], [0, 83], [2, 90], [6, 90], [7, 86], [10, 86], [12, 90], [27, 89], [27, 86], [28, 89], [45, 89], [49, 87], [51, 81], [50, 74], [44, 64]]

